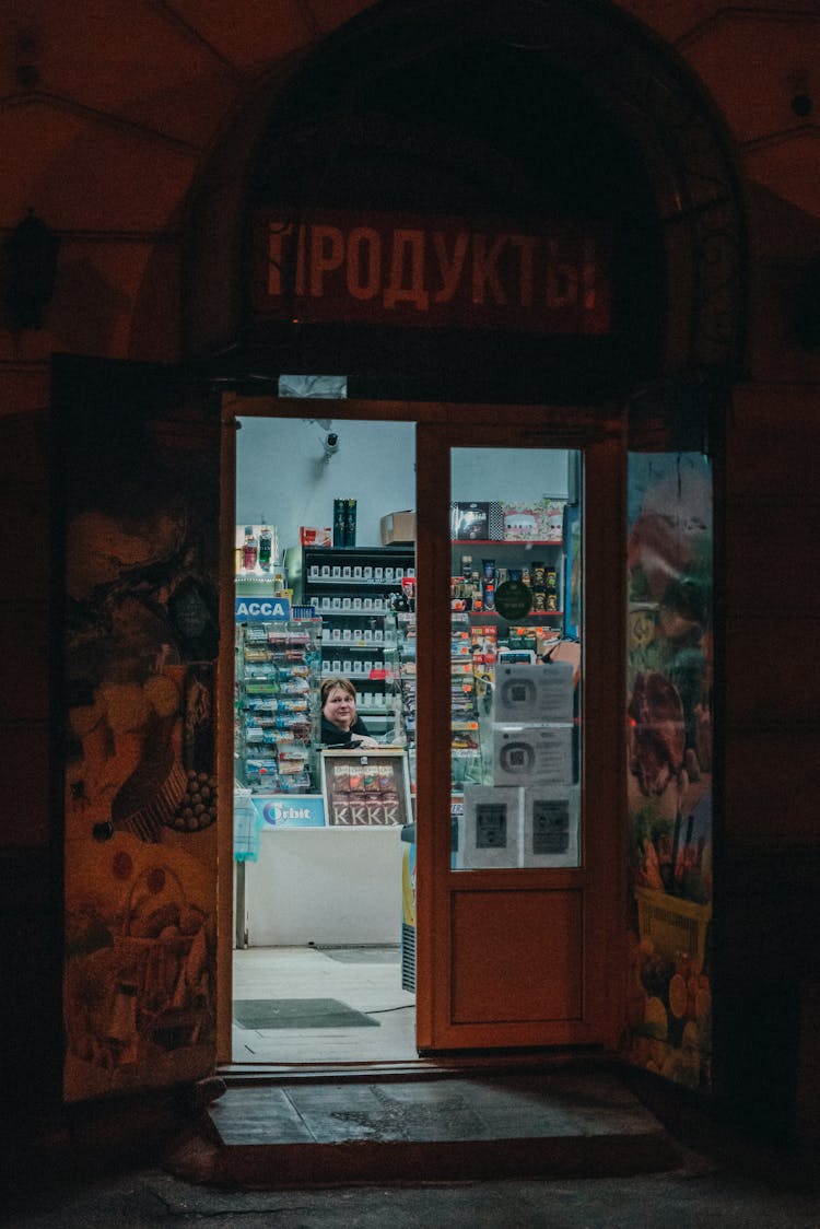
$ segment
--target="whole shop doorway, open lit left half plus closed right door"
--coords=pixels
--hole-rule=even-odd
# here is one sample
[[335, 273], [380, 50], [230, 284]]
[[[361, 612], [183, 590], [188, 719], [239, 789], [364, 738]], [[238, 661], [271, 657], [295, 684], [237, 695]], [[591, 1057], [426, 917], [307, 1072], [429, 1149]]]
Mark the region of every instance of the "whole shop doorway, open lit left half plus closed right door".
[[[483, 407], [408, 406], [403, 419], [388, 420], [375, 403], [322, 403], [321, 420], [306, 417], [316, 403], [246, 410], [237, 414], [231, 526], [236, 590], [264, 600], [275, 586], [288, 613], [315, 629], [320, 677], [355, 682], [375, 758], [401, 805], [391, 822], [368, 823], [364, 778], [348, 795], [344, 752], [321, 746], [316, 775], [273, 796], [269, 764], [248, 757], [247, 745], [248, 729], [252, 751], [268, 736], [275, 710], [263, 697], [252, 697], [251, 726], [240, 732], [248, 627], [237, 616], [234, 757], [245, 764], [235, 804], [250, 801], [256, 812], [257, 850], [235, 857], [231, 1061], [334, 1066], [452, 1048], [605, 1045], [620, 1023], [609, 970], [618, 967], [620, 871], [610, 854], [621, 817], [612, 703], [621, 693], [618, 655], [604, 649], [600, 619], [606, 610], [607, 635], [618, 622], [618, 430], [600, 414], [529, 407], [502, 426]], [[483, 422], [491, 418], [493, 426]], [[337, 445], [329, 456], [328, 435]], [[354, 462], [347, 471], [336, 466], [344, 451]], [[588, 519], [590, 482], [599, 510]], [[355, 544], [339, 546], [339, 531], [334, 547], [334, 500], [343, 498], [355, 499]], [[273, 562], [262, 569], [258, 537], [274, 526]], [[241, 579], [246, 528], [257, 559]], [[397, 546], [396, 532], [416, 541]], [[316, 535], [327, 544], [305, 541]], [[411, 554], [398, 564], [402, 549]], [[373, 606], [364, 618], [355, 583], [365, 568], [375, 571], [365, 554], [376, 551], [391, 558], [393, 581], [402, 575], [377, 618]], [[595, 560], [590, 594], [584, 559]], [[374, 639], [357, 648], [357, 634], [345, 637], [357, 621], [371, 633], [376, 622], [390, 624], [379, 661]], [[532, 678], [569, 681], [536, 717], [503, 710], [502, 672], [511, 680], [507, 694]], [[535, 775], [520, 758], [515, 775], [510, 755], [502, 771], [503, 739], [521, 732], [519, 742], [532, 734], [550, 744]], [[290, 773], [288, 756], [285, 767]], [[349, 798], [361, 804], [354, 823], [339, 810]], [[511, 968], [525, 999], [541, 987], [537, 1002], [514, 1011]]]

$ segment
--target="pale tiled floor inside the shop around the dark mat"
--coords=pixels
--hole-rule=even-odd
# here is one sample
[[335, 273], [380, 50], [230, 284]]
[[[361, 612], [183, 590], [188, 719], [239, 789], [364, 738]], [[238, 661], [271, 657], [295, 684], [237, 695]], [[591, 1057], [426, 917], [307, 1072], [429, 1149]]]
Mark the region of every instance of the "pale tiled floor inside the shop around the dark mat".
[[[402, 989], [395, 949], [247, 948], [234, 952], [234, 999], [338, 999], [379, 1027], [242, 1029], [235, 1063], [407, 1062], [417, 1058], [416, 998]], [[360, 960], [354, 959], [360, 955]]]

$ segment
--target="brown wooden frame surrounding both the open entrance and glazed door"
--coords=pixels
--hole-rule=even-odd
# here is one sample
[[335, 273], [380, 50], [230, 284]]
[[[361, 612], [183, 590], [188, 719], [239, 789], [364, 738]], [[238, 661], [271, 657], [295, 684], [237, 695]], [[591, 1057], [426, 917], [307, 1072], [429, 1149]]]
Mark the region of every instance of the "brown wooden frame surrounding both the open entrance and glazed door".
[[[327, 403], [322, 403], [327, 404]], [[315, 407], [315, 402], [310, 402]], [[449, 481], [441, 477], [441, 438], [446, 435], [461, 446], [478, 446], [492, 435], [491, 446], [540, 446], [561, 449], [584, 449], [593, 444], [600, 449], [618, 449], [626, 462], [626, 444], [623, 415], [611, 406], [606, 407], [546, 407], [546, 406], [508, 406], [508, 404], [454, 404], [439, 402], [370, 402], [370, 401], [333, 401], [333, 418], [374, 419], [381, 422], [414, 423], [417, 436], [417, 575], [424, 578], [419, 585], [417, 608], [417, 635], [429, 651], [419, 654], [417, 662], [417, 696], [419, 710], [427, 710], [429, 723], [419, 728], [417, 734], [417, 783], [418, 796], [423, 809], [444, 807], [447, 803], [446, 822], [443, 815], [436, 816], [433, 826], [419, 823], [417, 846], [418, 880], [418, 917], [428, 919], [429, 925], [420, 924], [417, 934], [417, 1046], [420, 1052], [434, 1052], [433, 1042], [441, 1035], [441, 1013], [449, 994], [449, 968], [438, 966], [434, 961], [432, 932], [434, 925], [445, 924], [440, 889], [434, 886], [434, 866], [449, 863], [450, 823], [450, 763], [449, 757], [440, 756], [438, 748], [449, 746], [450, 713], [446, 705], [436, 704], [436, 672], [440, 664], [435, 651], [438, 626], [435, 611], [444, 608], [449, 601], [450, 585], [450, 542], [449, 535], [441, 532], [449, 516]], [[223, 456], [221, 456], [221, 542], [220, 562], [220, 621], [223, 632], [234, 626], [234, 533], [236, 503], [236, 419], [240, 417], [261, 418], [302, 418], [306, 402], [291, 398], [243, 398], [225, 397], [223, 406]], [[438, 435], [438, 444], [436, 444]], [[611, 462], [610, 462], [611, 463]], [[591, 476], [590, 476], [591, 477]], [[617, 506], [607, 510], [607, 532], [599, 538], [597, 549], [615, 552], [615, 558], [622, 558], [626, 551], [625, 540], [625, 500], [626, 477], [618, 483]], [[611, 558], [611, 556], [610, 556]], [[586, 570], [591, 571], [594, 558], [586, 556]], [[611, 567], [611, 564], [610, 564]], [[615, 569], [612, 568], [615, 574]], [[611, 882], [607, 885], [607, 933], [610, 946], [595, 954], [595, 976], [607, 978], [607, 970], [617, 970], [618, 976], [609, 976], [606, 999], [606, 1020], [600, 1021], [599, 1032], [610, 1045], [615, 1045], [623, 1021], [625, 977], [620, 973], [626, 968], [622, 938], [625, 934], [626, 909], [626, 787], [625, 787], [625, 737], [623, 721], [623, 669], [625, 669], [625, 595], [623, 573], [620, 569], [620, 581], [613, 583], [606, 592], [599, 592], [599, 586], [586, 586], [585, 610], [588, 628], [602, 628], [609, 624], [612, 635], [609, 644], [620, 646], [618, 651], [607, 651], [604, 635], [594, 635], [585, 648], [586, 678], [596, 677], [602, 682], [602, 693], [612, 697], [617, 705], [617, 718], [590, 710], [584, 705], [586, 724], [604, 721], [610, 731], [606, 745], [600, 751], [601, 780], [611, 798], [611, 823], [604, 833], [606, 857]], [[446, 587], [446, 595], [445, 595]], [[440, 630], [440, 628], [439, 628]], [[446, 675], [445, 675], [446, 677]], [[219, 729], [219, 779], [224, 783], [220, 791], [220, 846], [219, 846], [219, 961], [218, 961], [218, 1062], [231, 1064], [231, 1002], [232, 1002], [232, 949], [234, 949], [234, 849], [232, 849], [232, 724], [234, 724], [234, 643], [232, 637], [223, 634], [218, 687], [218, 729]], [[428, 839], [428, 833], [433, 839]], [[435, 842], [435, 843], [434, 843]], [[459, 873], [463, 874], [463, 873]], [[481, 873], [470, 873], [481, 875]], [[498, 875], [499, 873], [493, 873]], [[537, 875], [537, 871], [509, 873], [515, 887], [522, 887], [525, 880], [520, 876]], [[497, 882], [502, 882], [497, 880]], [[398, 885], [397, 885], [398, 893]], [[449, 906], [447, 906], [449, 907]], [[449, 923], [447, 923], [449, 924]], [[439, 1021], [436, 1025], [435, 1021]], [[526, 1041], [520, 1042], [526, 1045]], [[492, 1037], [477, 1039], [476, 1045], [484, 1048], [492, 1046]], [[267, 1064], [259, 1064], [267, 1066]], [[275, 1064], [269, 1064], [275, 1066]]]

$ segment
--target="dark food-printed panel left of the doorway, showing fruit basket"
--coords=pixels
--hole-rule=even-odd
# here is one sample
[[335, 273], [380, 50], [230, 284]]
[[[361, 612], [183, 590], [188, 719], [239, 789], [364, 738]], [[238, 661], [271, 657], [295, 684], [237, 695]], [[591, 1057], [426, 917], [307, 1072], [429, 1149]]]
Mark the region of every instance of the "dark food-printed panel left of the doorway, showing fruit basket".
[[69, 1100], [213, 1068], [215, 431], [104, 388], [63, 423]]

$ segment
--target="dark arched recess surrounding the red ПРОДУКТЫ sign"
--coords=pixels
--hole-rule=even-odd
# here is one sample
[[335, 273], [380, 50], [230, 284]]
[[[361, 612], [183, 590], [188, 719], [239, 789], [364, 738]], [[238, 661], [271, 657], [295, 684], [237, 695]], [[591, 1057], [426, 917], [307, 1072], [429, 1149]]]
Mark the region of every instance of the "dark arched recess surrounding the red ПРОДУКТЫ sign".
[[[270, 98], [273, 97], [273, 102]], [[606, 216], [602, 342], [259, 327], [248, 218], [307, 206]], [[620, 11], [569, 0], [375, 5], [267, 84], [192, 208], [184, 347], [240, 381], [337, 370], [363, 396], [596, 399], [735, 377], [745, 237], [729, 141], [692, 74]]]

